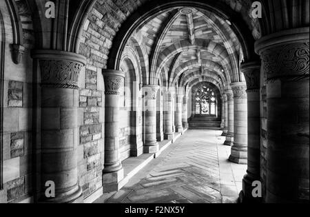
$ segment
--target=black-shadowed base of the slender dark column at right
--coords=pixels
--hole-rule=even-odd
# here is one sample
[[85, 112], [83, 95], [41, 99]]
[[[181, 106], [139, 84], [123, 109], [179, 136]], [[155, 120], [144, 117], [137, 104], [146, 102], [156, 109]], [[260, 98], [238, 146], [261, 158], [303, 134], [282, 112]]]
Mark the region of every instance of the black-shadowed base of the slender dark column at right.
[[[260, 178], [257, 178], [256, 180], [260, 180]], [[252, 196], [252, 191], [254, 187], [252, 187], [252, 183], [255, 180], [252, 180], [249, 178], [248, 175], [245, 175], [245, 177], [242, 180], [242, 191], [239, 194], [239, 202], [240, 203], [262, 203], [262, 198], [254, 198]]]

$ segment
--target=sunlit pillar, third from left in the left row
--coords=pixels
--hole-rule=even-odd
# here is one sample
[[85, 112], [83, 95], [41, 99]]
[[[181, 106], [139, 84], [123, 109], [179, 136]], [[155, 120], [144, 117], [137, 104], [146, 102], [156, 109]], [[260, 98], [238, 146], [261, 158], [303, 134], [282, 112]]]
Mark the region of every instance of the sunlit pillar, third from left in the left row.
[[156, 153], [159, 145], [156, 139], [156, 95], [158, 85], [145, 85], [143, 87], [144, 99], [144, 153]]

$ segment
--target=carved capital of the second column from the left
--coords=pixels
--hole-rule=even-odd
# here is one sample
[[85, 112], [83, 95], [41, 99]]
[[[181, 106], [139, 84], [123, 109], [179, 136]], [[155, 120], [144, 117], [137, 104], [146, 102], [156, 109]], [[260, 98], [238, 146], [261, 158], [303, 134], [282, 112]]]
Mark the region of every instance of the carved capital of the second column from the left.
[[118, 95], [124, 82], [125, 73], [119, 70], [103, 70], [102, 74], [105, 81], [105, 94]]

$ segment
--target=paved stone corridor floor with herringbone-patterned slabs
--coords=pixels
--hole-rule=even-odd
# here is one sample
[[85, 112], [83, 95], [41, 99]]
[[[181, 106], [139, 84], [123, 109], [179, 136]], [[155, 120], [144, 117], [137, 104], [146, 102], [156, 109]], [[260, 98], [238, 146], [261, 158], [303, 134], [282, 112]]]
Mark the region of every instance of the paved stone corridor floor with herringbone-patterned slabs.
[[247, 167], [227, 160], [221, 133], [188, 130], [120, 191], [95, 203], [236, 203]]

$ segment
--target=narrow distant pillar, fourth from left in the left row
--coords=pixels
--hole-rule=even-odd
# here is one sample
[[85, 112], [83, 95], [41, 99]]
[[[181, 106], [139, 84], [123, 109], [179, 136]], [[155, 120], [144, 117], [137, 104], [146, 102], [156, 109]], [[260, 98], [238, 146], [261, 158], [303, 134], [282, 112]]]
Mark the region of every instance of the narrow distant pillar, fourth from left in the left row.
[[165, 93], [165, 139], [172, 140], [174, 138], [174, 130], [172, 127], [172, 111], [174, 96], [171, 92]]

